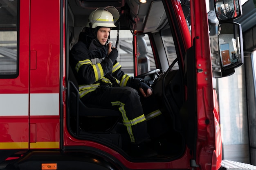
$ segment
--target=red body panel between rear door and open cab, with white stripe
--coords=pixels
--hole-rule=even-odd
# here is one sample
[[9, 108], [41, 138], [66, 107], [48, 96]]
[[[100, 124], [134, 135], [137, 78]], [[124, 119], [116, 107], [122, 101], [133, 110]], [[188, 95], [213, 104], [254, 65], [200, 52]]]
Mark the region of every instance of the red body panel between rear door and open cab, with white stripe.
[[31, 0], [30, 148], [59, 148], [60, 2]]

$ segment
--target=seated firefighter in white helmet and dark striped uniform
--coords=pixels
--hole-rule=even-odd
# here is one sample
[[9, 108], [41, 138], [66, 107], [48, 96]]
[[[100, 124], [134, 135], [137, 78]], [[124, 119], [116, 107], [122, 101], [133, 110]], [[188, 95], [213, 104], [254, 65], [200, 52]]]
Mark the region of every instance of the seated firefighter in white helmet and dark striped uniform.
[[[139, 149], [150, 139], [140, 96], [149, 98], [153, 92], [143, 79], [121, 71], [116, 60], [118, 51], [108, 43], [110, 30], [116, 27], [118, 19], [119, 12], [112, 6], [93, 11], [70, 52], [70, 64], [75, 70], [82, 102], [118, 109], [133, 148]], [[153, 111], [148, 119], [159, 114], [159, 110]], [[148, 152], [147, 157], [157, 154], [148, 148], [144, 151]]]

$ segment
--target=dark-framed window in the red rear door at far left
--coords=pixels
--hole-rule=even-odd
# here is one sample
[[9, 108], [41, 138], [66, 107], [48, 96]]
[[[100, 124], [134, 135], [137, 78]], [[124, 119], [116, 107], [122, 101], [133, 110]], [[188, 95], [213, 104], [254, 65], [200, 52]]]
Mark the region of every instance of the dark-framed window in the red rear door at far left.
[[0, 78], [18, 76], [17, 14], [17, 0], [0, 0]]

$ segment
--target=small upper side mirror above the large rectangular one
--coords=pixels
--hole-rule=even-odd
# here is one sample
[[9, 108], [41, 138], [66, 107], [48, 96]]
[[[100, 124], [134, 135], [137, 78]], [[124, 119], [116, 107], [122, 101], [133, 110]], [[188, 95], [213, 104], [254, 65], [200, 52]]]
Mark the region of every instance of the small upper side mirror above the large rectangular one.
[[215, 0], [214, 5], [219, 21], [234, 20], [243, 15], [240, 0]]

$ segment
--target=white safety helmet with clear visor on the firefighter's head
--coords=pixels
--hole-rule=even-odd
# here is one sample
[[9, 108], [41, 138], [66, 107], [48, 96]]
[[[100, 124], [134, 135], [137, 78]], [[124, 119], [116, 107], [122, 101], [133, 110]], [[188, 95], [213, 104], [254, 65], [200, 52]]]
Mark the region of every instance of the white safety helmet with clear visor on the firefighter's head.
[[116, 27], [115, 22], [117, 22], [119, 16], [119, 12], [115, 7], [108, 6], [103, 8], [97, 8], [95, 11], [92, 11], [92, 13], [90, 13], [88, 22], [85, 27]]

